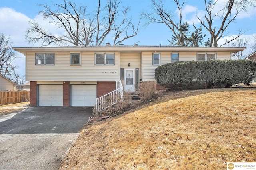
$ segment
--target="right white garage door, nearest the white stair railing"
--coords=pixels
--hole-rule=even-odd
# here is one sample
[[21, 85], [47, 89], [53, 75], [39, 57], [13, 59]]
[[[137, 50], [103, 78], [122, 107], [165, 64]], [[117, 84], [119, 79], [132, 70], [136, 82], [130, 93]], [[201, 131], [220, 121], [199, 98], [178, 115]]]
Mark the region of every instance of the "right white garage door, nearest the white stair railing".
[[71, 106], [93, 106], [96, 85], [71, 85]]

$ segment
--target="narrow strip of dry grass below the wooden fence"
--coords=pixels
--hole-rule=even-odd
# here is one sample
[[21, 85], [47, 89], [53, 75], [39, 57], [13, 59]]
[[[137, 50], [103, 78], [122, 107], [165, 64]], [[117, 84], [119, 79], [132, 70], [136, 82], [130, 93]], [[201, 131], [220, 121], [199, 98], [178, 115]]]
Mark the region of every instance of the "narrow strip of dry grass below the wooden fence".
[[0, 106], [0, 115], [22, 111], [23, 109], [26, 108], [23, 106], [26, 106], [28, 104], [30, 104], [30, 102], [21, 102], [21, 103], [15, 103], [15, 104], [2, 105]]

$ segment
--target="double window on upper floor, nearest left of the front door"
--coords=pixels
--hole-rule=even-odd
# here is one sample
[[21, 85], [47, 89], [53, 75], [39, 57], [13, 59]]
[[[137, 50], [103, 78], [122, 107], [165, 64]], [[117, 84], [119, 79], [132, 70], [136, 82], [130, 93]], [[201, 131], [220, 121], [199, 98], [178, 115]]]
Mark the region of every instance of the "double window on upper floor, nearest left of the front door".
[[114, 53], [95, 53], [95, 65], [114, 65]]

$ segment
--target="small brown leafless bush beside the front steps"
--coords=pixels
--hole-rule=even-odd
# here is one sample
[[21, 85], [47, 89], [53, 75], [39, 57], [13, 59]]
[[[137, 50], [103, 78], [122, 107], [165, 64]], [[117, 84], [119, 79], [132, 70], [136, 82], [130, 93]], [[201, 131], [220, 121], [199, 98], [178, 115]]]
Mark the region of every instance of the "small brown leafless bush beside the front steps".
[[140, 83], [138, 88], [140, 100], [150, 100], [156, 96], [156, 81], [147, 81]]

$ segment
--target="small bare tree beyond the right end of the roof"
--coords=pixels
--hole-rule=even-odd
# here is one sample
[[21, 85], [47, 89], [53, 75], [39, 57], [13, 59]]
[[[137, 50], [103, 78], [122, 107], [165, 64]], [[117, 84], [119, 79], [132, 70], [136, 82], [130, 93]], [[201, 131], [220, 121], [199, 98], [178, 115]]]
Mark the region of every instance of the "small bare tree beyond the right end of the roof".
[[[238, 38], [238, 39], [232, 41], [232, 43], [229, 43], [228, 46], [229, 47], [246, 47], [246, 46], [248, 46], [248, 44], [249, 44], [248, 39]], [[246, 53], [244, 53], [244, 51], [239, 51], [239, 52], [232, 54], [232, 59], [234, 59], [234, 60], [244, 59], [245, 57], [246, 57]]]

